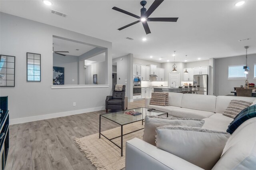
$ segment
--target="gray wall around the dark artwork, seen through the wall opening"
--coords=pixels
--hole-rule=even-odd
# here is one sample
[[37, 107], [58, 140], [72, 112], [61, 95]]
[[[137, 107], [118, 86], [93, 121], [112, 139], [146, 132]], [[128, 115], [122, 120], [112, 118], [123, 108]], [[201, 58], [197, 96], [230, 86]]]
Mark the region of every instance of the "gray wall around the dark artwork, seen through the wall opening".
[[[74, 55], [58, 55], [53, 53], [53, 66], [64, 67], [64, 84], [77, 85], [79, 83], [79, 65], [78, 56]], [[72, 81], [74, 79], [74, 81]]]

